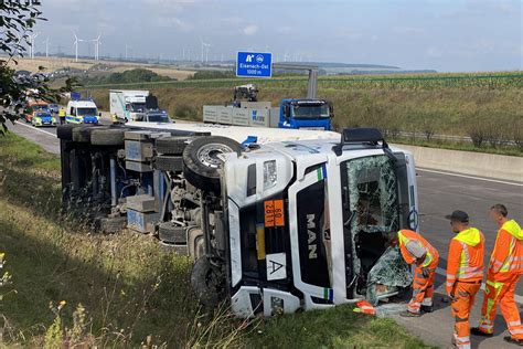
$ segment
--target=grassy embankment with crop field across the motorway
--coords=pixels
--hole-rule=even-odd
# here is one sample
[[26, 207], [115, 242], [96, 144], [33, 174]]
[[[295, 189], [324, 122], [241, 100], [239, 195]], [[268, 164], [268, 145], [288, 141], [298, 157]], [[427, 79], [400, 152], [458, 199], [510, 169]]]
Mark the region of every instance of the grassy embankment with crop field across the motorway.
[[[166, 84], [136, 84], [150, 88], [160, 105], [177, 118], [201, 119], [204, 104], [222, 105], [232, 87], [247, 81], [210, 80]], [[284, 97], [303, 97], [307, 81], [280, 77], [256, 81], [259, 101], [277, 105]], [[109, 86], [90, 89], [96, 103], [108, 108]], [[334, 125], [378, 127], [388, 138], [423, 146], [523, 156], [523, 74], [431, 74], [322, 77], [318, 96], [333, 102]], [[420, 138], [402, 138], [402, 131]], [[438, 140], [435, 135], [473, 136], [479, 142]], [[504, 147], [502, 140], [516, 140]]]

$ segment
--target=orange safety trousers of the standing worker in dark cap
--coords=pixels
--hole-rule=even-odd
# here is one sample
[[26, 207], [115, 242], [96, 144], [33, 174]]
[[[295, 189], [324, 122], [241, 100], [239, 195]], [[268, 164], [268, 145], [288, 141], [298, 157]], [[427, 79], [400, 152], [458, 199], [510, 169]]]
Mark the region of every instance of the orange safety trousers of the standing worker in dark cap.
[[452, 317], [455, 318], [453, 338], [458, 349], [470, 349], [469, 316], [481, 282], [466, 283], [457, 281], [453, 285]]

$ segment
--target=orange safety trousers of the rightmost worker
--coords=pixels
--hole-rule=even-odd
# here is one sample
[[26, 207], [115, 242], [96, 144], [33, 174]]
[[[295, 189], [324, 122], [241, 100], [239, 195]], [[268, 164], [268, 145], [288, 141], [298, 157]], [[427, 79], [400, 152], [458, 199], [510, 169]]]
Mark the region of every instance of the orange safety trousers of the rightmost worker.
[[480, 330], [485, 334], [492, 334], [499, 304], [512, 338], [523, 340], [523, 326], [521, 325], [520, 311], [514, 300], [514, 289], [521, 275], [515, 274], [503, 283], [491, 279], [487, 281], [483, 307], [481, 308]]

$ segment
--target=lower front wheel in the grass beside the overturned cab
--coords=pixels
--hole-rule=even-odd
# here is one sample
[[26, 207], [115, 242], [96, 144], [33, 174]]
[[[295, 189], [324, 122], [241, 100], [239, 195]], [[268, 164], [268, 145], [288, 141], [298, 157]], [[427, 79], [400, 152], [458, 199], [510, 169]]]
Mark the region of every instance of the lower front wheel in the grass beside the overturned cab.
[[214, 308], [223, 298], [224, 285], [220, 269], [207, 256], [200, 257], [191, 272], [191, 286], [198, 300], [206, 308]]

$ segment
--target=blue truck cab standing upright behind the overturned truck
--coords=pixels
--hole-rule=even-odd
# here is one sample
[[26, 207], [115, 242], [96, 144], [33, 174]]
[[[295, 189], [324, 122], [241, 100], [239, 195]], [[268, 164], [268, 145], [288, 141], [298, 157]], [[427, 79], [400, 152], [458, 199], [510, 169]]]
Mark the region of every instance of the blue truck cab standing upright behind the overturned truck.
[[282, 99], [279, 128], [331, 130], [332, 105], [324, 99]]

